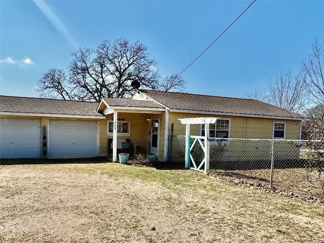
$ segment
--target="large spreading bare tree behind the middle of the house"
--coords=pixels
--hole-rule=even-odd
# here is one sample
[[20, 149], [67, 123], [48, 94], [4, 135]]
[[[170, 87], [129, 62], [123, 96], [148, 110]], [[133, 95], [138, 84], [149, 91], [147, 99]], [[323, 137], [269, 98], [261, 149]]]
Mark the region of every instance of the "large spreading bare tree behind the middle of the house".
[[[175, 79], [177, 82], [170, 78], [162, 80], [147, 47], [123, 38], [104, 41], [96, 49], [79, 48], [72, 57], [68, 75], [62, 70], [59, 71], [64, 76], [58, 75], [52, 69], [43, 74], [36, 89], [43, 97], [100, 101], [103, 97], [131, 97], [134, 80], [148, 89], [183, 89], [185, 83], [181, 77]], [[52, 85], [56, 80], [61, 80], [60, 85]]]

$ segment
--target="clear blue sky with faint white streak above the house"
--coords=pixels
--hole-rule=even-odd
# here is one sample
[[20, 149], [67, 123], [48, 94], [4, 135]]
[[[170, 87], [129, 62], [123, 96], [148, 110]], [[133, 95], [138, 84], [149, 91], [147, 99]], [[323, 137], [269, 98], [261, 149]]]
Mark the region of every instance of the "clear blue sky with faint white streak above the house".
[[[181, 72], [252, 1], [1, 1], [0, 94], [38, 97], [37, 80], [65, 69], [79, 46], [123, 37], [148, 47], [163, 75]], [[258, 0], [183, 73], [186, 91], [244, 97], [324, 41], [324, 1]]]

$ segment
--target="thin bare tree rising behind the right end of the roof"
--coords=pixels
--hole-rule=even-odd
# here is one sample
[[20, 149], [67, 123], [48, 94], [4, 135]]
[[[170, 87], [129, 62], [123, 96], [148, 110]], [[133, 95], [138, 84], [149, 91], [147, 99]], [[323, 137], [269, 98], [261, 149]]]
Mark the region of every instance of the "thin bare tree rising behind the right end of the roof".
[[247, 93], [245, 97], [261, 100], [272, 105], [291, 110], [301, 111], [307, 102], [307, 92], [304, 88], [304, 74], [302, 72], [293, 76], [292, 71], [277, 75], [268, 83], [268, 91]]

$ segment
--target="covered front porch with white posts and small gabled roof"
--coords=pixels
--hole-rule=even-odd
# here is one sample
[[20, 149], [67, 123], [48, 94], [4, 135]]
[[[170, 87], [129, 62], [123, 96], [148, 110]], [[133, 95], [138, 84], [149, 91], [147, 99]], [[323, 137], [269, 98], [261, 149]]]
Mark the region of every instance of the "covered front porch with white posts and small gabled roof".
[[166, 108], [152, 101], [105, 98], [98, 111], [106, 115], [100, 121], [100, 154], [118, 161], [121, 152], [153, 153], [159, 161], [167, 161]]

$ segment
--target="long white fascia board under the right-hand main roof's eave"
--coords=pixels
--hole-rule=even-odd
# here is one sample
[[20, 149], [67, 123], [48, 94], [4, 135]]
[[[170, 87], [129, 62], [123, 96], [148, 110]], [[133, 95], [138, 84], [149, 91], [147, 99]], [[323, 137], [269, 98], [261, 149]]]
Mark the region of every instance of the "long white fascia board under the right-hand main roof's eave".
[[170, 112], [192, 113], [192, 114], [209, 114], [209, 115], [244, 116], [244, 117], [257, 117], [257, 118], [269, 118], [269, 119], [286, 119], [286, 120], [303, 120], [304, 119], [302, 117], [291, 117], [291, 116], [238, 114], [238, 113], [228, 113], [228, 112], [213, 112], [213, 111], [200, 111], [200, 110], [182, 110], [182, 109], [170, 109]]

